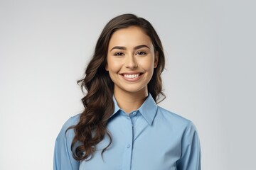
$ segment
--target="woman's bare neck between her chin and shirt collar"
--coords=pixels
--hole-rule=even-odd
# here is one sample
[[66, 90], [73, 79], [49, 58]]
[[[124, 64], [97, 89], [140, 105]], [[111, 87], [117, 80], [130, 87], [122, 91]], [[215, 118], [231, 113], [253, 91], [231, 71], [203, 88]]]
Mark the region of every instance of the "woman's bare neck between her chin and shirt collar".
[[119, 108], [125, 111], [127, 114], [131, 113], [132, 111], [136, 111], [142, 103], [146, 100], [148, 96], [147, 91], [137, 92], [137, 93], [129, 93], [124, 92], [117, 93], [114, 91], [114, 98], [116, 99]]

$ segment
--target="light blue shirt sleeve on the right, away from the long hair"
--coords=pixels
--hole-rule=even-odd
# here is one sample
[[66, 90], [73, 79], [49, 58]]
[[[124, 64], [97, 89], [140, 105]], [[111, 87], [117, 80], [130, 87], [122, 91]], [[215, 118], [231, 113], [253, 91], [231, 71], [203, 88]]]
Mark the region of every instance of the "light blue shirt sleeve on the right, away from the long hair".
[[181, 159], [178, 170], [201, 170], [201, 147], [198, 132], [193, 123], [189, 123], [181, 140]]

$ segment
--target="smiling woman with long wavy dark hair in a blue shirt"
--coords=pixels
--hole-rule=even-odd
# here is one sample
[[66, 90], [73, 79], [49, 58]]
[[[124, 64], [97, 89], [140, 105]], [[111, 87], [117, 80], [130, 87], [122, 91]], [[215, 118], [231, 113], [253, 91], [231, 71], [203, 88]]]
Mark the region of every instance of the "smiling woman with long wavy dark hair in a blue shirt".
[[78, 81], [85, 110], [63, 125], [54, 169], [201, 169], [191, 121], [156, 105], [162, 93], [164, 52], [149, 21], [113, 18]]

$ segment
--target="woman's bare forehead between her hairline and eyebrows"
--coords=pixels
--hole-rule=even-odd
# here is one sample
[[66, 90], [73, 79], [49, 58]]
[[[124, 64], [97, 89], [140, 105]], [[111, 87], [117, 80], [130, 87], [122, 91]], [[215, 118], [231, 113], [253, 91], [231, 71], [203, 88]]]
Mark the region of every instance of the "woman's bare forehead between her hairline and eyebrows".
[[110, 47], [115, 45], [124, 46], [124, 47], [134, 47], [137, 45], [148, 45], [152, 46], [151, 39], [148, 35], [139, 28], [138, 26], [130, 26], [128, 28], [122, 28], [115, 31], [110, 38]]

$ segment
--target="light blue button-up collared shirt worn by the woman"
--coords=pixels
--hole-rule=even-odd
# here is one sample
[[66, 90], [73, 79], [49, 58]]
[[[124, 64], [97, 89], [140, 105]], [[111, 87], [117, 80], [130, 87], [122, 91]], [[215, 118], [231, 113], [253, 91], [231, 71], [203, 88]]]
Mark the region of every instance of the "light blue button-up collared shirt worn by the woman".
[[[113, 98], [114, 99], [114, 98]], [[114, 99], [114, 113], [107, 124], [112, 145], [106, 136], [89, 161], [73, 159], [70, 149], [80, 115], [70, 118], [61, 129], [54, 153], [55, 170], [200, 170], [198, 132], [190, 120], [156, 105], [149, 94], [142, 106], [125, 113]], [[103, 157], [102, 157], [103, 156]]]

